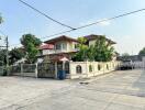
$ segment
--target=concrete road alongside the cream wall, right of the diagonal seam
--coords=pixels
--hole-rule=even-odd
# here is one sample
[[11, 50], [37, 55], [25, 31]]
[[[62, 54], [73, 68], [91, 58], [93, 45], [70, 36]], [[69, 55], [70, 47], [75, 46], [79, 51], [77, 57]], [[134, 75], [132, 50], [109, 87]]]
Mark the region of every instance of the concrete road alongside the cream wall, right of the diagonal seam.
[[57, 90], [2, 110], [145, 110], [144, 70], [114, 72], [88, 85], [60, 82]]

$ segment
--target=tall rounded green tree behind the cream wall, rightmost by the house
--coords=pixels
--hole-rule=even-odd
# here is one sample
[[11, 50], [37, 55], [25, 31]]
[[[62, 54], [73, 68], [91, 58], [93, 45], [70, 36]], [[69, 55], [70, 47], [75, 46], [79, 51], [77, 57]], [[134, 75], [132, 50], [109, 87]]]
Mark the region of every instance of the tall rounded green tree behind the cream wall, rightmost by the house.
[[110, 62], [112, 61], [114, 48], [112, 44], [107, 41], [105, 36], [100, 36], [94, 44], [94, 61], [96, 62]]

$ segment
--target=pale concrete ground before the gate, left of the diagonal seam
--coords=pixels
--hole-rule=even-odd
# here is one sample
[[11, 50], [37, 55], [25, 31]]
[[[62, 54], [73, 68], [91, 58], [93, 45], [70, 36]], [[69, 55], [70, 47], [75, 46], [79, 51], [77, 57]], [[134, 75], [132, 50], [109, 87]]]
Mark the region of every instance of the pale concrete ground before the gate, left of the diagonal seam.
[[15, 110], [19, 106], [32, 103], [52, 92], [69, 87], [63, 80], [36, 79], [29, 77], [0, 77], [0, 110]]

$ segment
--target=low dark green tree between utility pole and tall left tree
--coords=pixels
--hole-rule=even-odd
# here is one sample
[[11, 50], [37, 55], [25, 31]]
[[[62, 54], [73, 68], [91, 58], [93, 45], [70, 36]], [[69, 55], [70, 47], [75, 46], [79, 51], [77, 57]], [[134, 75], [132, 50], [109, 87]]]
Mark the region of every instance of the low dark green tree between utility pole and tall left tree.
[[22, 48], [13, 48], [9, 52], [9, 63], [12, 65], [13, 63], [23, 58], [25, 56], [25, 52]]

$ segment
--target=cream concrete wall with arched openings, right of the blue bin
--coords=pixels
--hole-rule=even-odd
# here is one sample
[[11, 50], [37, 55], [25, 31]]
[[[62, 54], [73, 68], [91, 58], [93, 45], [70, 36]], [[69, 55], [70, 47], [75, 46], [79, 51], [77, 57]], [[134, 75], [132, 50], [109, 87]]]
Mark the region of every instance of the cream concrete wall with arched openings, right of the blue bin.
[[121, 65], [121, 62], [70, 62], [69, 63], [69, 75], [68, 78], [87, 78], [92, 76], [98, 76], [102, 74], [115, 70]]

